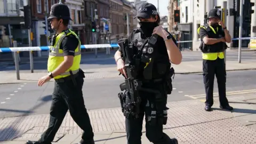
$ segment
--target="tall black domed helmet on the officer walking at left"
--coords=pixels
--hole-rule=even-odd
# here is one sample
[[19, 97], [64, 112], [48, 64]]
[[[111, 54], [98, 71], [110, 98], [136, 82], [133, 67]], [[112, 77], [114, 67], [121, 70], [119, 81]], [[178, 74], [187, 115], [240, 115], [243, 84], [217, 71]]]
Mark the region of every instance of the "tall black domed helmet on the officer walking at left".
[[63, 20], [72, 20], [70, 18], [68, 6], [62, 3], [52, 5], [50, 17], [48, 19], [53, 19], [53, 18], [59, 18]]

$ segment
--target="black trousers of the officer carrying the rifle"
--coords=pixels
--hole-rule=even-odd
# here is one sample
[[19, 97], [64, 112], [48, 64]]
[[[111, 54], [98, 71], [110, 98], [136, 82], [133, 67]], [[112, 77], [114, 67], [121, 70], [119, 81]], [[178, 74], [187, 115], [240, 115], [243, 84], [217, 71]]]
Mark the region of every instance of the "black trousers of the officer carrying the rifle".
[[[145, 84], [143, 84], [145, 86]], [[156, 87], [157, 86], [157, 87]], [[162, 103], [159, 103], [159, 106], [166, 108], [167, 103], [167, 94], [164, 90], [163, 84], [155, 84], [149, 85], [149, 89], [159, 90], [162, 96]], [[148, 116], [151, 115], [151, 107], [148, 103], [149, 101], [154, 101], [156, 95], [148, 92], [141, 92], [140, 96], [142, 98], [142, 102], [140, 105], [140, 114], [137, 119], [125, 118], [125, 126], [126, 126], [126, 135], [127, 135], [127, 144], [141, 144], [141, 136], [142, 136], [142, 124], [143, 118], [145, 115], [146, 120], [146, 137], [150, 142], [154, 144], [171, 144], [172, 140], [170, 137], [163, 132], [163, 123], [157, 123], [156, 125], [150, 125], [148, 122]]]

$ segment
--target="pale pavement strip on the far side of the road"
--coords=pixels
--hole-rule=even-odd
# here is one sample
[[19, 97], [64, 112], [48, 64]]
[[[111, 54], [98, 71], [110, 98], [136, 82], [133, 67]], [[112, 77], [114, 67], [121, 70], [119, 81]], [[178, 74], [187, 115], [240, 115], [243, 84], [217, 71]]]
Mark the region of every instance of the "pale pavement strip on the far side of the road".
[[[238, 63], [237, 61], [226, 61], [226, 70], [250, 70], [256, 69], [256, 61], [244, 61]], [[190, 74], [190, 73], [202, 73], [202, 60], [200, 61], [184, 61], [180, 65], [172, 65], [176, 74]], [[102, 68], [92, 68], [85, 69], [85, 79], [94, 79], [94, 78], [110, 78], [110, 77], [119, 77], [119, 73], [116, 69], [116, 66], [112, 65], [111, 67], [102, 67]], [[30, 83], [37, 82], [39, 78], [45, 76], [47, 70], [34, 70], [34, 73], [30, 73], [30, 70], [20, 70], [20, 80], [17, 80], [17, 74], [15, 71], [0, 71], [0, 84], [6, 83]], [[51, 80], [53, 81], [53, 80]]]

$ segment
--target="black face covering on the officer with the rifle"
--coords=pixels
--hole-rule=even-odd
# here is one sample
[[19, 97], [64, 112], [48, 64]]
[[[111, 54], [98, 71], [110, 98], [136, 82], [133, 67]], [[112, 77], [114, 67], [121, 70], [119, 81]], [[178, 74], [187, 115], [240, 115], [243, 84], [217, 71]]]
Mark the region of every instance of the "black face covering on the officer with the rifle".
[[154, 28], [158, 26], [157, 22], [140, 21], [139, 24], [142, 33], [145, 34], [146, 37], [150, 37]]

